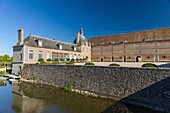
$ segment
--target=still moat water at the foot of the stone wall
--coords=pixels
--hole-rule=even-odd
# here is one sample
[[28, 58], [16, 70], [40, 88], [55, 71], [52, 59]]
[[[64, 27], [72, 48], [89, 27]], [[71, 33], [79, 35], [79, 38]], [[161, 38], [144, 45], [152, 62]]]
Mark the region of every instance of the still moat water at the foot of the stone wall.
[[27, 82], [1, 82], [0, 102], [0, 113], [158, 113]]

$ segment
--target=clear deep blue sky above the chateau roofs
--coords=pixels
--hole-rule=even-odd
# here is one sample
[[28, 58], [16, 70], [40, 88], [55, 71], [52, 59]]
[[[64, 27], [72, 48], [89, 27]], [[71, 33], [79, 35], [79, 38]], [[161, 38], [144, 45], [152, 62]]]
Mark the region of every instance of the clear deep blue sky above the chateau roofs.
[[93, 36], [170, 27], [170, 0], [0, 0], [0, 55], [12, 55], [17, 30], [73, 42]]

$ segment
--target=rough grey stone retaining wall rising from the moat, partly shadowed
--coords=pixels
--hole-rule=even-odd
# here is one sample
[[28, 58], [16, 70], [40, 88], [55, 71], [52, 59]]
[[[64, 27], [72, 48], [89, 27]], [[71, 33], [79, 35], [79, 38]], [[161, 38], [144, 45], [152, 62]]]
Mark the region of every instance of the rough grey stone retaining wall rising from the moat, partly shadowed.
[[[22, 79], [117, 97], [124, 102], [170, 110], [170, 70], [76, 65], [25, 65]], [[158, 102], [158, 104], [156, 104]], [[164, 104], [162, 104], [164, 103]]]

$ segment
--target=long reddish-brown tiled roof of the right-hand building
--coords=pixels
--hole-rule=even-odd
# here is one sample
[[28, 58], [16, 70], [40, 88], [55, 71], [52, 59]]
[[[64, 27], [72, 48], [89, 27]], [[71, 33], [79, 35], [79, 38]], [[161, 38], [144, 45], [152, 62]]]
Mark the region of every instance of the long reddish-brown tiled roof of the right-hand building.
[[107, 45], [120, 43], [148, 42], [170, 39], [170, 28], [144, 30], [125, 34], [115, 34], [108, 36], [98, 36], [89, 39], [92, 45]]

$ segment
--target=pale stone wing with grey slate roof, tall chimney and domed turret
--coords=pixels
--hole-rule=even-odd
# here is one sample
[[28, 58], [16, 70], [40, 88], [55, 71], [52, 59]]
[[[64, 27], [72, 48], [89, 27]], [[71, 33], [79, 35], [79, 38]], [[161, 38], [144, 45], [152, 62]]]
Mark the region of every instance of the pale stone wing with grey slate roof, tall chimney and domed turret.
[[24, 39], [24, 30], [18, 30], [18, 43], [13, 46], [13, 74], [21, 71], [23, 64], [35, 64], [39, 58], [80, 59], [91, 61], [91, 45], [87, 42], [81, 28], [73, 43], [62, 42], [30, 34]]

